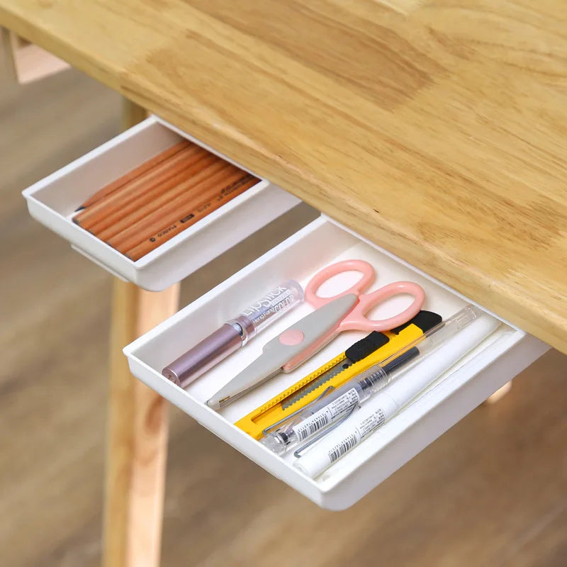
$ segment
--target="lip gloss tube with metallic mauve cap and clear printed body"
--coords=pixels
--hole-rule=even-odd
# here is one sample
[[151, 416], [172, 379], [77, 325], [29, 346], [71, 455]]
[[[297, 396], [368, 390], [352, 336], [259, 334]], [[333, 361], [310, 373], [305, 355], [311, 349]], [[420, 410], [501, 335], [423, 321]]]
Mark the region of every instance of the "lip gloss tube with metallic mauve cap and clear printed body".
[[302, 301], [303, 288], [299, 283], [294, 280], [282, 283], [181, 354], [162, 370], [162, 374], [185, 388]]

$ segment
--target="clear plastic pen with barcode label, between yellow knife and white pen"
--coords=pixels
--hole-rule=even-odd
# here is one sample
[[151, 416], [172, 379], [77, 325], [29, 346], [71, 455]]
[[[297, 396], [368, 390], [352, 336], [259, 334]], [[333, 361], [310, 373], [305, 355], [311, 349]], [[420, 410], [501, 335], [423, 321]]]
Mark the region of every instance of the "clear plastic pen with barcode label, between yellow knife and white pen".
[[[307, 442], [323, 430], [340, 422], [350, 412], [380, 391], [397, 376], [410, 369], [418, 361], [432, 354], [444, 342], [481, 316], [481, 311], [467, 305], [451, 318], [439, 323], [403, 349], [352, 378], [336, 390], [327, 391], [321, 398], [308, 405], [303, 412], [287, 420], [260, 442], [276, 454]], [[408, 364], [408, 363], [412, 364]]]

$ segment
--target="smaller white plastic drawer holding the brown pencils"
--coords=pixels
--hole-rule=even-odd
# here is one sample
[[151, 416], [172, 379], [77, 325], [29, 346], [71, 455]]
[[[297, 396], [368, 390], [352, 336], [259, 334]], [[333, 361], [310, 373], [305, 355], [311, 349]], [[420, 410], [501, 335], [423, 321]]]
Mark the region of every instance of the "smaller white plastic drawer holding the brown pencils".
[[30, 215], [111, 274], [161, 291], [301, 203], [261, 180], [136, 262], [72, 221], [75, 210], [101, 187], [183, 137], [218, 155], [152, 116], [23, 191]]

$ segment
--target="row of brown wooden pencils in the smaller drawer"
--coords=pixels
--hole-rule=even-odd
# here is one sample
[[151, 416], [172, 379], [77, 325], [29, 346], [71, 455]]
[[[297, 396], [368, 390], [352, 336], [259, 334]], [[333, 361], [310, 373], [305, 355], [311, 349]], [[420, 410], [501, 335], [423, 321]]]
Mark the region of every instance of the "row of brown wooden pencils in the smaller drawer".
[[258, 181], [183, 140], [97, 191], [73, 221], [135, 261]]

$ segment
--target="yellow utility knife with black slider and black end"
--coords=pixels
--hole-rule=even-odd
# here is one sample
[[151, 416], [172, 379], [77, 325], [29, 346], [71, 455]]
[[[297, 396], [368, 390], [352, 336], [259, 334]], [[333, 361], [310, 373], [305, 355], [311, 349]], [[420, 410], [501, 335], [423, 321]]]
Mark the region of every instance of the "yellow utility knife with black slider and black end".
[[271, 429], [273, 425], [291, 415], [296, 415], [327, 388], [342, 386], [350, 378], [391, 357], [441, 321], [442, 318], [437, 313], [420, 311], [407, 323], [391, 331], [371, 332], [287, 390], [242, 417], [235, 425], [254, 439], [260, 439], [264, 436], [264, 430]]

